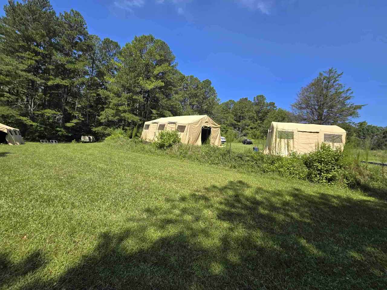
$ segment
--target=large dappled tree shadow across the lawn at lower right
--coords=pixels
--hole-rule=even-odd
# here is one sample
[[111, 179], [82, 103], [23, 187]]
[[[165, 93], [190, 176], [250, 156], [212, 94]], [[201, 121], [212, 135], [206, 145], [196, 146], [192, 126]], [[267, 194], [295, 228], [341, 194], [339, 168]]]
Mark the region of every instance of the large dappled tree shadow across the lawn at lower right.
[[[385, 289], [387, 203], [243, 181], [166, 198], [23, 289]], [[150, 238], [156, 235], [155, 238]], [[150, 241], [151, 239], [151, 241]]]

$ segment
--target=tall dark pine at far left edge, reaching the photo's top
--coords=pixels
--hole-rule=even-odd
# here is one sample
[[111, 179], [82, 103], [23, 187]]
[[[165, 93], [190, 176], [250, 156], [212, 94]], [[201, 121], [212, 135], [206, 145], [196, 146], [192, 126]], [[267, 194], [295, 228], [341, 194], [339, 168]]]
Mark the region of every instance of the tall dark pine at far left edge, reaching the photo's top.
[[35, 110], [47, 101], [58, 19], [48, 0], [9, 0], [4, 11], [0, 18], [1, 102], [12, 108], [16, 119], [31, 123]]

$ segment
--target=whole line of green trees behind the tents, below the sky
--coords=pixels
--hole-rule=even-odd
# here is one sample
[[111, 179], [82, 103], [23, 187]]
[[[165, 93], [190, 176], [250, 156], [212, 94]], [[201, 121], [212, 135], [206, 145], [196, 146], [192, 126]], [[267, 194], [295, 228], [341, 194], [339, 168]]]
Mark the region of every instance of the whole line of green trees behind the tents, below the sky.
[[[121, 47], [89, 34], [82, 15], [49, 0], [9, 0], [0, 18], [0, 120], [29, 140], [78, 140], [167, 116], [207, 114], [222, 134], [264, 138], [272, 121], [337, 124], [353, 140], [387, 144], [386, 128], [351, 123], [362, 105], [331, 68], [302, 88], [292, 111], [258, 94], [221, 103], [210, 80], [178, 70], [168, 44], [136, 36]], [[137, 130], [136, 130], [137, 131]]]

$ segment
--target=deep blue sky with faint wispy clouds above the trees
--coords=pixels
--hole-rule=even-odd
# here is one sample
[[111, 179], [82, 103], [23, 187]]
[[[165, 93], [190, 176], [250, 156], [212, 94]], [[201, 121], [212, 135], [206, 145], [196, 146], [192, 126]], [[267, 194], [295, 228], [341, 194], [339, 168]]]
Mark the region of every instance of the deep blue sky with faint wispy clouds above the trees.
[[[0, 3], [5, 4], [5, 0]], [[135, 35], [168, 43], [186, 75], [212, 81], [221, 101], [264, 94], [290, 109], [329, 67], [344, 72], [360, 118], [387, 126], [385, 0], [51, 0], [91, 34], [122, 46]]]

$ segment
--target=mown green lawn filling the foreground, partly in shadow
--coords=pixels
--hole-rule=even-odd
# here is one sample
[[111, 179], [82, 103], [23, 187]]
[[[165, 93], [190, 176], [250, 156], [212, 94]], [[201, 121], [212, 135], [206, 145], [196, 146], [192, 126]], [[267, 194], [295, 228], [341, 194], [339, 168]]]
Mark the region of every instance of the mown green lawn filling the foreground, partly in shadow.
[[360, 191], [104, 143], [0, 145], [0, 181], [0, 289], [387, 288]]

